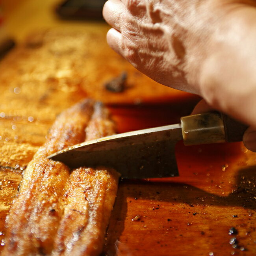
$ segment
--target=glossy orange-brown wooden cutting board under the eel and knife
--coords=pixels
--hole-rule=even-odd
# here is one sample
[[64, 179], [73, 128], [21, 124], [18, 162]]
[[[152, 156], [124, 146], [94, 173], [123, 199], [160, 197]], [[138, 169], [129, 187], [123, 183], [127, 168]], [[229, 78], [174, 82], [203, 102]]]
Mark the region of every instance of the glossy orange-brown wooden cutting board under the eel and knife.
[[[124, 132], [176, 123], [199, 100], [138, 73], [102, 35], [36, 33], [0, 63], [1, 248], [21, 173], [63, 109], [91, 96]], [[129, 86], [106, 91], [123, 70]], [[179, 177], [121, 180], [103, 255], [256, 255], [256, 154], [241, 143], [180, 142], [176, 158]]]

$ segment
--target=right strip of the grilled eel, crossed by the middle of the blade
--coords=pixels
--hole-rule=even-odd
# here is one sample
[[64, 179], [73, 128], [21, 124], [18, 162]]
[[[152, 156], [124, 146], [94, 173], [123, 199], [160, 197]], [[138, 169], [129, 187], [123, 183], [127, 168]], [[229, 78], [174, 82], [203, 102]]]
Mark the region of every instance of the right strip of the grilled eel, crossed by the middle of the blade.
[[[96, 102], [86, 128], [86, 140], [114, 134], [108, 111]], [[70, 175], [67, 206], [59, 225], [54, 256], [96, 256], [117, 194], [119, 174], [110, 168], [80, 167]]]

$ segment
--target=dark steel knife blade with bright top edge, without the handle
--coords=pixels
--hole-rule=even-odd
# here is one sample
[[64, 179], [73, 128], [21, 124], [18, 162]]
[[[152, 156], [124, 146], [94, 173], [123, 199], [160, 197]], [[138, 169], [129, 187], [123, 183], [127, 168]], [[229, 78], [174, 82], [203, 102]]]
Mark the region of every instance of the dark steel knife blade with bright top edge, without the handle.
[[67, 148], [49, 158], [70, 167], [113, 167], [123, 178], [177, 176], [174, 147], [180, 124], [116, 134]]

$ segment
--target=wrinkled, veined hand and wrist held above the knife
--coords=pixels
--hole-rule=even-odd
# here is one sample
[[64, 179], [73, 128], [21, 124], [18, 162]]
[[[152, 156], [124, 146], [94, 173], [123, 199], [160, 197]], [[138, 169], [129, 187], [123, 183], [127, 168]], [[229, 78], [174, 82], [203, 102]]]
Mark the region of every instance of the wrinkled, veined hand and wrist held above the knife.
[[256, 130], [256, 1], [108, 0], [103, 15], [134, 67]]

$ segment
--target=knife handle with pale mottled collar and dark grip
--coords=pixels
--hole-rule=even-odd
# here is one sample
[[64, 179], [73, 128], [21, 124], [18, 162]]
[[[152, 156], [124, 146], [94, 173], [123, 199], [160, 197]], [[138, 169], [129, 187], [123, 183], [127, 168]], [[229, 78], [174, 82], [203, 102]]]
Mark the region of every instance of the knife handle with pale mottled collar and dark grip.
[[185, 145], [242, 141], [248, 128], [218, 111], [189, 115], [181, 118]]

